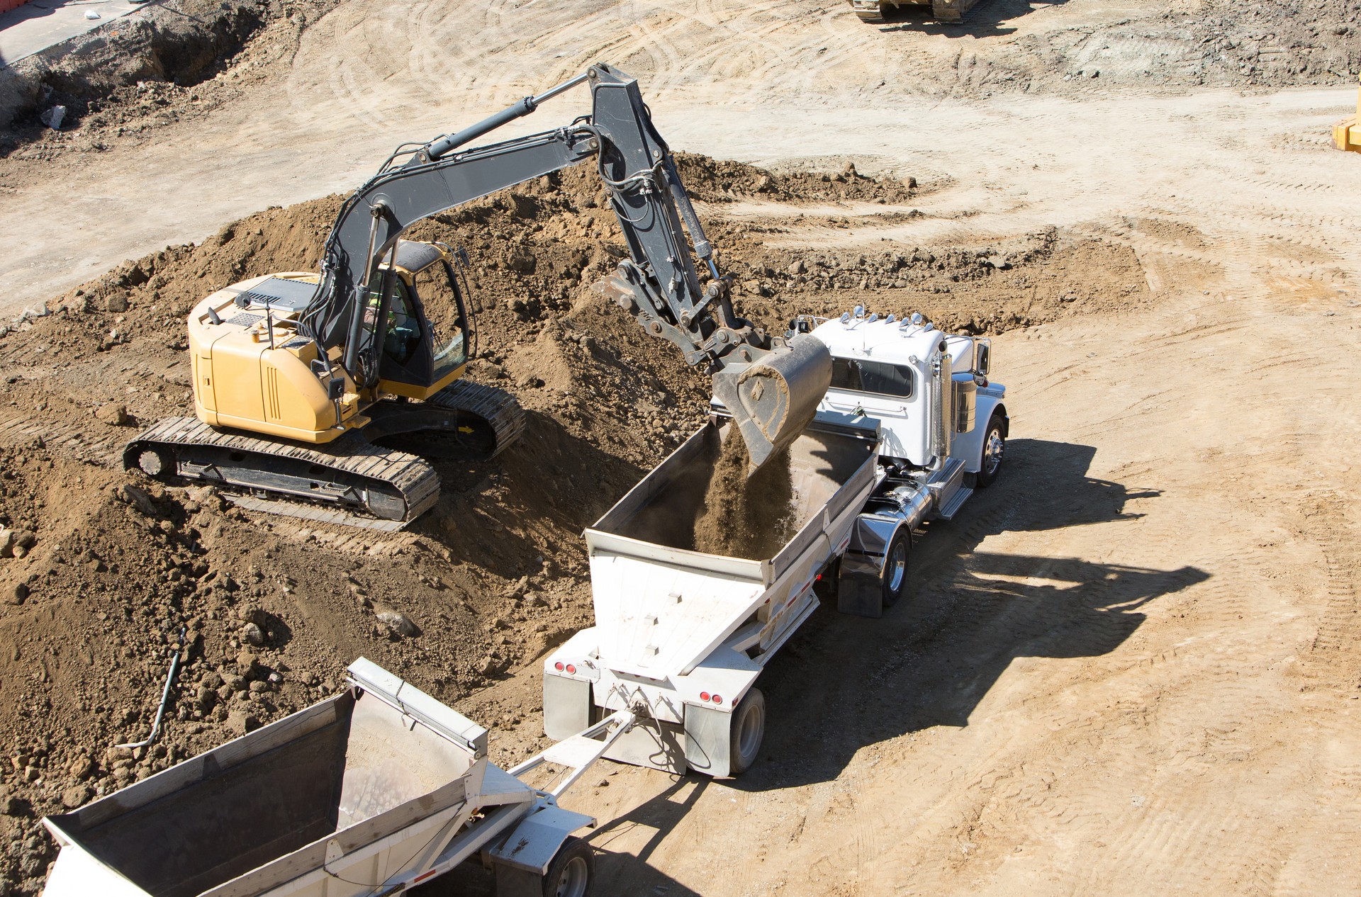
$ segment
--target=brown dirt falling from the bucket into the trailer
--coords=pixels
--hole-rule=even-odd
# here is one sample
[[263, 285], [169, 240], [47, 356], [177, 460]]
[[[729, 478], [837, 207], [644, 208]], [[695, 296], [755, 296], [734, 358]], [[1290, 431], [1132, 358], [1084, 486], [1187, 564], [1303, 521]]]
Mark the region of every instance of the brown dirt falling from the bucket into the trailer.
[[747, 444], [728, 429], [694, 524], [694, 547], [753, 561], [773, 557], [793, 536], [793, 478], [789, 451], [772, 456], [747, 476]]

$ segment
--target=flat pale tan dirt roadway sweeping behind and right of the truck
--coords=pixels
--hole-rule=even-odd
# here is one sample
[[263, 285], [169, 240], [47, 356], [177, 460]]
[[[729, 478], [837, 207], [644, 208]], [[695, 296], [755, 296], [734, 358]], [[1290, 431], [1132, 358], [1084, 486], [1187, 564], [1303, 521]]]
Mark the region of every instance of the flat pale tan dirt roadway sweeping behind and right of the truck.
[[[250, 102], [86, 157], [79, 177], [14, 186], [7, 301], [350, 186], [396, 136], [465, 123], [593, 59], [644, 79], [675, 147], [852, 158], [925, 188], [912, 218], [727, 210], [778, 219], [765, 240], [780, 252], [1056, 225], [1132, 249], [1149, 289], [1116, 312], [1072, 295], [1101, 313], [996, 339], [1014, 415], [1002, 482], [931, 525], [889, 615], [823, 610], [791, 642], [762, 679], [772, 721], [755, 769], [706, 781], [611, 766], [576, 792], [604, 822], [591, 837], [600, 893], [1361, 892], [1361, 159], [1326, 143], [1353, 88], [1155, 91], [1131, 48], [1176, 68], [1181, 44], [1077, 38], [1066, 68], [1034, 68], [1033, 94], [1002, 86], [1010, 53], [1147, 25], [1161, 7], [1142, 3], [1004, 7], [1015, 15], [947, 48], [930, 29], [867, 33], [838, 4], [593, 4], [570, 22], [479, 4], [472, 44], [463, 5], [359, 7], [323, 19]], [[717, 31], [727, 42], [709, 46]], [[876, 90], [885, 60], [902, 83]], [[912, 65], [930, 72], [917, 93]], [[1096, 65], [1102, 91], [1062, 79]], [[210, 177], [231, 189], [204, 195]], [[60, 215], [56, 185], [75, 197]], [[186, 195], [201, 201], [162, 201]], [[73, 274], [34, 223], [59, 216], [78, 233], [61, 250]], [[912, 310], [896, 293], [845, 298]], [[532, 708], [536, 690], [531, 663], [460, 709], [513, 745], [536, 719], [501, 712]]]

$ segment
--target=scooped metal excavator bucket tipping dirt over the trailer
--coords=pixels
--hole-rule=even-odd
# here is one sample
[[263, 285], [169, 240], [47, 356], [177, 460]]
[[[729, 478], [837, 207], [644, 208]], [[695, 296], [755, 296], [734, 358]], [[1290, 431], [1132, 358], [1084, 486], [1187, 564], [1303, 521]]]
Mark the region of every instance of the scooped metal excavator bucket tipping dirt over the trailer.
[[807, 333], [713, 376], [713, 395], [747, 444], [749, 475], [803, 433], [830, 384], [832, 353]]

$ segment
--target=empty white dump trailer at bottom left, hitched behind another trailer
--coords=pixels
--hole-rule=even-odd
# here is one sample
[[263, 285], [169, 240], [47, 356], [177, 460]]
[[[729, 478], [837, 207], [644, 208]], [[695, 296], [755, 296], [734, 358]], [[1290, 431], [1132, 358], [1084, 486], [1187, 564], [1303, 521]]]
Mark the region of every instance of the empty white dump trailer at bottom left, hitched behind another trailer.
[[[487, 730], [367, 660], [351, 689], [44, 822], [45, 897], [377, 897], [470, 858], [583, 897], [595, 819], [487, 761]], [[606, 720], [595, 734], [619, 732]], [[595, 755], [606, 740], [596, 745]], [[536, 757], [527, 766], [544, 762]], [[551, 762], [551, 761], [550, 761]], [[516, 770], [512, 770], [516, 772]]]

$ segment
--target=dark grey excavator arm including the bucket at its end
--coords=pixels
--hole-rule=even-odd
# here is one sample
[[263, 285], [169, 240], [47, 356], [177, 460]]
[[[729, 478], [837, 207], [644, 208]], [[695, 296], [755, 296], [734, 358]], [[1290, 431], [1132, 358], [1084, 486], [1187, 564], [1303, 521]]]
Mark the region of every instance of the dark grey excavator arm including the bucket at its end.
[[[461, 148], [583, 82], [592, 94], [589, 117], [555, 131]], [[393, 154], [342, 207], [323, 253], [321, 282], [302, 314], [302, 335], [324, 348], [343, 347], [342, 365], [355, 382], [376, 384], [393, 291], [391, 274], [382, 276], [380, 265], [403, 231], [423, 218], [588, 158], [596, 162], [629, 248], [629, 259], [597, 289], [646, 332], [674, 343], [687, 363], [705, 366], [755, 470], [813, 418], [832, 378], [830, 355], [811, 336], [770, 338], [735, 314], [729, 282], [719, 272], [637, 82], [607, 65], [592, 65], [465, 131]]]

